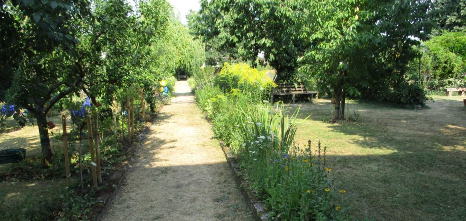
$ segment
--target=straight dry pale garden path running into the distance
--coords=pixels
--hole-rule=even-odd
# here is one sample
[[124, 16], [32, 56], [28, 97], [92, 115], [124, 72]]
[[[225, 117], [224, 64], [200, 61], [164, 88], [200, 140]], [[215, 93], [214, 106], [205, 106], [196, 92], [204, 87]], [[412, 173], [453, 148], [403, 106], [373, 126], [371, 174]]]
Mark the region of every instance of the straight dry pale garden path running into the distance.
[[186, 81], [151, 124], [103, 220], [251, 220]]

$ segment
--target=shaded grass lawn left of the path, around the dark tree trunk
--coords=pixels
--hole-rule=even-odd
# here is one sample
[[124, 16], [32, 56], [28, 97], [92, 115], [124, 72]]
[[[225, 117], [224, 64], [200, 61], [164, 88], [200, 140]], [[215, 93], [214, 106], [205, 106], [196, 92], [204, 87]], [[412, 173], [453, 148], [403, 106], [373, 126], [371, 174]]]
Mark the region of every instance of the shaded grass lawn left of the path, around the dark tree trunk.
[[[35, 120], [35, 119], [34, 119]], [[53, 137], [53, 134], [62, 133], [61, 115], [55, 114], [47, 118], [55, 124], [49, 135], [53, 151], [62, 153], [62, 144]], [[73, 127], [67, 116], [68, 132]], [[35, 122], [34, 122], [35, 123]], [[7, 130], [0, 134], [0, 150], [9, 148], [25, 148], [26, 157], [41, 157], [40, 137], [37, 125], [27, 124], [19, 128], [13, 118], [8, 119]], [[0, 164], [0, 174], [12, 170], [15, 163]], [[36, 170], [38, 170], [36, 168]], [[64, 172], [63, 172], [64, 174]], [[12, 181], [3, 180], [0, 176], [0, 220], [46, 220], [51, 211], [59, 209], [64, 201], [66, 180], [57, 178], [41, 180], [40, 177], [30, 177], [30, 180]]]

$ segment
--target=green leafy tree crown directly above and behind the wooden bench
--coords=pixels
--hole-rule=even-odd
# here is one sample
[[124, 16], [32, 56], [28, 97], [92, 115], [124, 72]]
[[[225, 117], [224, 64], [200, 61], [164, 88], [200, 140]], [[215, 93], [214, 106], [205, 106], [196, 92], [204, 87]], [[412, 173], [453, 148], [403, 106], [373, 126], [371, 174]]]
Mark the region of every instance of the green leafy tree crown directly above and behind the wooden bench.
[[[201, 1], [200, 34], [208, 41], [218, 37], [221, 48], [235, 48], [255, 64], [259, 52], [277, 70], [280, 81], [293, 76], [296, 58], [305, 46], [296, 34], [300, 1]], [[263, 63], [262, 63], [263, 64]]]

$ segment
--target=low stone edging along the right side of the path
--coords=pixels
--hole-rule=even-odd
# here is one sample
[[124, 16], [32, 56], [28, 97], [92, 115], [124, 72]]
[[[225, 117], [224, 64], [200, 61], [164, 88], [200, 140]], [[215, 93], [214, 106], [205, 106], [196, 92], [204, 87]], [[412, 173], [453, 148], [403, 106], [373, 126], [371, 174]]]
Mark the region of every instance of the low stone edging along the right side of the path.
[[[207, 117], [206, 114], [204, 114], [204, 116], [212, 127], [212, 121], [209, 119], [209, 117]], [[220, 148], [225, 154], [225, 158], [228, 162], [229, 168], [231, 169], [231, 173], [235, 176], [236, 184], [238, 185], [240, 192], [246, 201], [246, 204], [248, 204], [254, 219], [258, 221], [268, 220], [268, 211], [265, 209], [265, 204], [262, 202], [262, 200], [259, 199], [257, 194], [250, 189], [249, 183], [246, 182], [241, 174], [241, 170], [238, 166], [238, 163], [235, 161], [235, 157], [231, 156], [229, 147], [223, 145], [223, 143], [223, 141], [219, 141]]]

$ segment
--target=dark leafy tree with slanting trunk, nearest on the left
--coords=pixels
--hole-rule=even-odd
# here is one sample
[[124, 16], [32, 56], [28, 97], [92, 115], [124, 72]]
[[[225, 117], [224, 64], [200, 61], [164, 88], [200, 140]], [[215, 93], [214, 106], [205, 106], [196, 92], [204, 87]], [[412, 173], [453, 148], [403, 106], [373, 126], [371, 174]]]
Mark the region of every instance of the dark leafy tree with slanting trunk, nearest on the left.
[[[2, 54], [9, 61], [0, 71], [11, 80], [6, 99], [26, 108], [37, 119], [45, 162], [52, 152], [46, 114], [53, 105], [79, 87], [85, 74], [83, 56], [76, 51], [79, 42], [77, 21], [88, 18], [87, 1], [2, 1]], [[3, 20], [3, 19], [2, 19]], [[13, 39], [13, 41], [8, 41]], [[14, 51], [11, 51], [11, 50]], [[5, 58], [6, 57], [6, 58]], [[71, 59], [72, 58], [72, 59]]]

